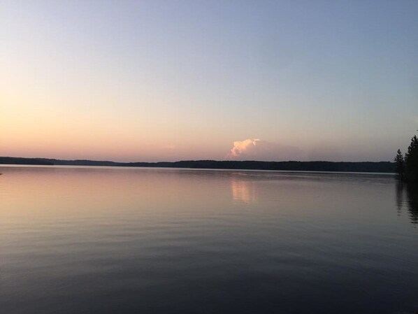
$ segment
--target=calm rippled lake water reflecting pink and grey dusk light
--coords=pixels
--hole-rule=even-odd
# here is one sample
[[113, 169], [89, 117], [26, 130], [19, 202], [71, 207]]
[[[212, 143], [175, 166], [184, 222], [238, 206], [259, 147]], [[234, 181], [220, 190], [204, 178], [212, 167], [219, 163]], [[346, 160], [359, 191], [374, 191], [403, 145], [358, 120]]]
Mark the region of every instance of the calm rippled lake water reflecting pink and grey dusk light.
[[1, 313], [412, 313], [390, 175], [0, 167]]

